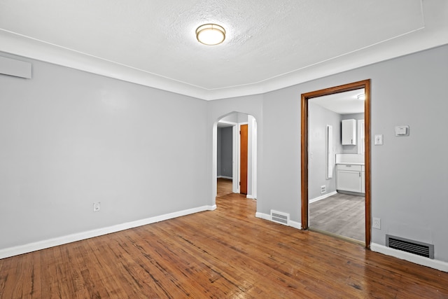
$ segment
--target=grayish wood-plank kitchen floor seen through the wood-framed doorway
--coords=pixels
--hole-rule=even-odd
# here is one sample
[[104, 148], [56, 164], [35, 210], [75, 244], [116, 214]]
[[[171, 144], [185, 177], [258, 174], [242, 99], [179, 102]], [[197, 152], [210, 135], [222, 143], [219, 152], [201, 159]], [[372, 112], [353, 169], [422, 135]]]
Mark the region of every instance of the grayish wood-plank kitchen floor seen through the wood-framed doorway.
[[309, 228], [365, 242], [365, 197], [337, 193], [309, 204]]

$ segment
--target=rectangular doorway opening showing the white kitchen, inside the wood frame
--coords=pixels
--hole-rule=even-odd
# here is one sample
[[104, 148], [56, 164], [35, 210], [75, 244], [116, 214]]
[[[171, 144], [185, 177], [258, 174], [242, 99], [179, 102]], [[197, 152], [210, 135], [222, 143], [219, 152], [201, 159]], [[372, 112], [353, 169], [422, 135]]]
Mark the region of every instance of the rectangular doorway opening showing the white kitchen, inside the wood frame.
[[365, 115], [360, 95], [364, 89], [309, 99], [308, 202], [309, 229], [364, 243]]

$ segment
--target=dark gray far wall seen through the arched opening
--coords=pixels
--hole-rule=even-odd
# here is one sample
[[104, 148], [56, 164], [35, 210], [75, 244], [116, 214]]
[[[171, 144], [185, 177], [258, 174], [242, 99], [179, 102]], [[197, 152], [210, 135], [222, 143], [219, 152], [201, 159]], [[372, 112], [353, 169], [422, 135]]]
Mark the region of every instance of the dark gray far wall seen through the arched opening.
[[218, 127], [218, 176], [232, 177], [232, 127]]

